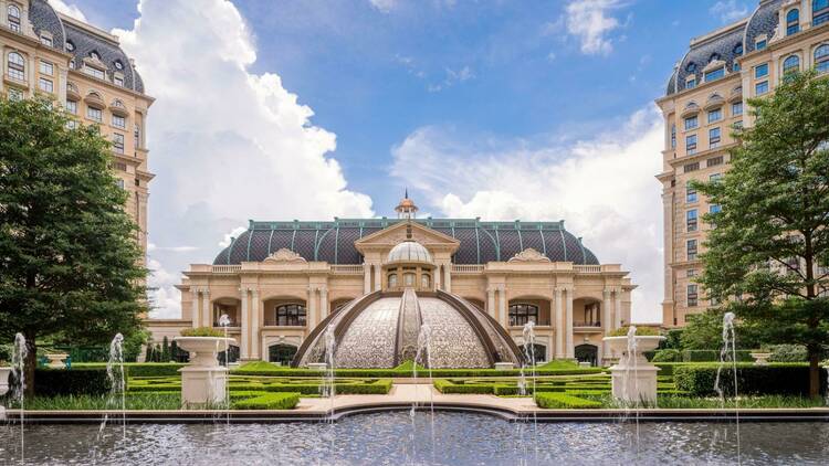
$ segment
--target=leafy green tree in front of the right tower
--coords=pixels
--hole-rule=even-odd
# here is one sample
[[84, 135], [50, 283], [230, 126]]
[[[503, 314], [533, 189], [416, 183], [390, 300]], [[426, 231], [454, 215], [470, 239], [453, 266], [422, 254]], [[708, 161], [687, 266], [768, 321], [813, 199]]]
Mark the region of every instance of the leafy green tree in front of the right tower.
[[695, 183], [722, 208], [705, 215], [701, 283], [769, 341], [806, 346], [817, 396], [829, 340], [829, 81], [789, 74], [748, 104], [756, 119], [736, 129], [731, 170]]

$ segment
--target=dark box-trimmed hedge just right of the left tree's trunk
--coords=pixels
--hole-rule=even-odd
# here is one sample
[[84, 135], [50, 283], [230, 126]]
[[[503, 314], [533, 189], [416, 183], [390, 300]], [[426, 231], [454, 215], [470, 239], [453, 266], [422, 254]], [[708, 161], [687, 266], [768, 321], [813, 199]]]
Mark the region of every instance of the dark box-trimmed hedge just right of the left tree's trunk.
[[[124, 381], [126, 389], [127, 381]], [[35, 369], [34, 394], [38, 396], [57, 395], [104, 395], [112, 385], [103, 368]]]

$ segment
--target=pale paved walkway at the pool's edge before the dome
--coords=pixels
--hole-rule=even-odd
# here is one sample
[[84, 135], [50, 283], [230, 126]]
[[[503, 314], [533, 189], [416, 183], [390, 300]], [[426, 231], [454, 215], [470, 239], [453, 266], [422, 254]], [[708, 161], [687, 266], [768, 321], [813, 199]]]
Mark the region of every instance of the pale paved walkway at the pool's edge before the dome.
[[531, 398], [500, 398], [487, 394], [443, 394], [431, 384], [400, 384], [392, 385], [385, 395], [336, 395], [334, 402], [324, 398], [304, 398], [296, 406], [297, 411], [307, 413], [327, 413], [355, 407], [382, 406], [389, 404], [412, 404], [428, 406], [434, 404], [452, 404], [479, 409], [495, 409], [512, 411], [516, 414], [532, 413], [535, 402]]

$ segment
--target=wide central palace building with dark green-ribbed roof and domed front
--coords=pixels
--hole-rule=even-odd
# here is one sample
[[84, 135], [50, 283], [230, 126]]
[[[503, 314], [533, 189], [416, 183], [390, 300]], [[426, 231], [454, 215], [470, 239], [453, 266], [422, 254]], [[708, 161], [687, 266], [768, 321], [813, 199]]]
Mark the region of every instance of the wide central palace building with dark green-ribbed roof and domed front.
[[412, 359], [432, 332], [434, 367], [516, 363], [534, 324], [535, 353], [599, 363], [601, 338], [630, 322], [636, 287], [564, 222], [418, 219], [250, 222], [212, 264], [185, 272], [180, 319], [148, 319], [154, 340], [227, 328], [242, 360], [305, 366], [334, 330], [339, 367]]

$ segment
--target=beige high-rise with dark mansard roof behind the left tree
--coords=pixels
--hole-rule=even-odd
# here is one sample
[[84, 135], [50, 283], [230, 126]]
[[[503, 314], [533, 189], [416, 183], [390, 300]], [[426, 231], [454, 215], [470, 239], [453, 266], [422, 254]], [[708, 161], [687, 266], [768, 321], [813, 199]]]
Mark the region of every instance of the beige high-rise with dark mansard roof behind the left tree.
[[73, 125], [96, 125], [112, 140], [112, 168], [129, 193], [126, 209], [146, 252], [154, 174], [145, 128], [154, 99], [118, 38], [57, 13], [45, 0], [0, 0], [0, 95], [51, 97], [76, 117]]

